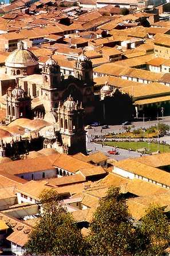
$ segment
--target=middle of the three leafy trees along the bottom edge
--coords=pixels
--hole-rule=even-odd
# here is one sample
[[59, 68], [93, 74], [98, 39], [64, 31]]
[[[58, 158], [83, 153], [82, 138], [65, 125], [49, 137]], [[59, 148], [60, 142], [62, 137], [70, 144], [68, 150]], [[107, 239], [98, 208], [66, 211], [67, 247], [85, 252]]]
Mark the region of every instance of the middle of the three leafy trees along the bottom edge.
[[120, 188], [111, 187], [100, 200], [90, 225], [89, 255], [129, 255], [129, 240], [132, 236], [131, 215]]

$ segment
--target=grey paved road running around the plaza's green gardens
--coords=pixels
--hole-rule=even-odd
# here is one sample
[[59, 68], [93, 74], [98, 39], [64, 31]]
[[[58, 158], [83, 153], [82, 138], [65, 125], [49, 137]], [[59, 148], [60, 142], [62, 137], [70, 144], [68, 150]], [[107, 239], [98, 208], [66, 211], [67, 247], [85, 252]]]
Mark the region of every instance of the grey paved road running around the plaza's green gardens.
[[[159, 119], [160, 123], [168, 124], [170, 126], [170, 116], [164, 117], [164, 119]], [[135, 125], [135, 129], [137, 128], [149, 128], [152, 125], [156, 125], [157, 120], [152, 121], [134, 121], [131, 125]], [[129, 126], [129, 125], [128, 125]], [[112, 150], [112, 147], [109, 146], [103, 146], [101, 144], [97, 144], [94, 142], [90, 142], [90, 139], [92, 139], [92, 135], [106, 135], [108, 133], [119, 133], [124, 132], [124, 128], [122, 125], [109, 125], [108, 129], [101, 129], [101, 127], [93, 127], [92, 129], [88, 129], [87, 136], [88, 136], [88, 143], [87, 148], [91, 152], [101, 151], [105, 153], [109, 158], [115, 159], [115, 160], [122, 160], [129, 157], [140, 157], [141, 153], [135, 152], [135, 151], [128, 151], [125, 149], [118, 149], [118, 152], [120, 152], [119, 155], [109, 155], [108, 151]], [[161, 141], [166, 141], [170, 144], [170, 136], [165, 136], [160, 138]]]

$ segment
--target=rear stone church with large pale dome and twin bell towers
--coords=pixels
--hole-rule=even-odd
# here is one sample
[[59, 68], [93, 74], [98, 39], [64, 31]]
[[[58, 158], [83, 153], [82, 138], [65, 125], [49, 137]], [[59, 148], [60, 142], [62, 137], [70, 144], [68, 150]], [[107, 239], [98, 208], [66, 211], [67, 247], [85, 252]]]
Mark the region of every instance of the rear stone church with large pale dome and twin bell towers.
[[[57, 110], [59, 102], [64, 102], [71, 94], [75, 101], [82, 102], [85, 119], [90, 120], [94, 111], [92, 62], [82, 54], [74, 66], [74, 76], [65, 78], [60, 66], [52, 57], [38, 68], [37, 57], [24, 48], [22, 41], [5, 62], [5, 74], [15, 78], [17, 86], [31, 97], [31, 109], [48, 113]], [[9, 82], [10, 84], [10, 82]], [[14, 89], [14, 85], [11, 86]], [[6, 88], [7, 89], [7, 88]], [[17, 117], [18, 118], [18, 117]]]

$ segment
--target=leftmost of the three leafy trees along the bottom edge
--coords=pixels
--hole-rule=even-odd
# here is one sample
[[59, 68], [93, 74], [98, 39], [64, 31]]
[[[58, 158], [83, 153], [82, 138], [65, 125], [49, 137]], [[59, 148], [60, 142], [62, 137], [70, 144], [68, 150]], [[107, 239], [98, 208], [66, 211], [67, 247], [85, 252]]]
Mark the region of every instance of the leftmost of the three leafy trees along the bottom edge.
[[54, 190], [41, 194], [43, 213], [26, 244], [31, 255], [81, 255], [82, 236]]

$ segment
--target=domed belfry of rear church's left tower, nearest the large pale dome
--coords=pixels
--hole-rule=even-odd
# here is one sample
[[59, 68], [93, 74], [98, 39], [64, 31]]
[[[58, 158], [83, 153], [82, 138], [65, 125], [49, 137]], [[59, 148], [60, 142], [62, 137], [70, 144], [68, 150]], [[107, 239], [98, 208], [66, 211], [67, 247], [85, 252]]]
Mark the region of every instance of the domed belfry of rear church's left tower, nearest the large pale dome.
[[52, 56], [42, 66], [43, 87], [46, 89], [57, 88], [61, 81], [60, 66]]

